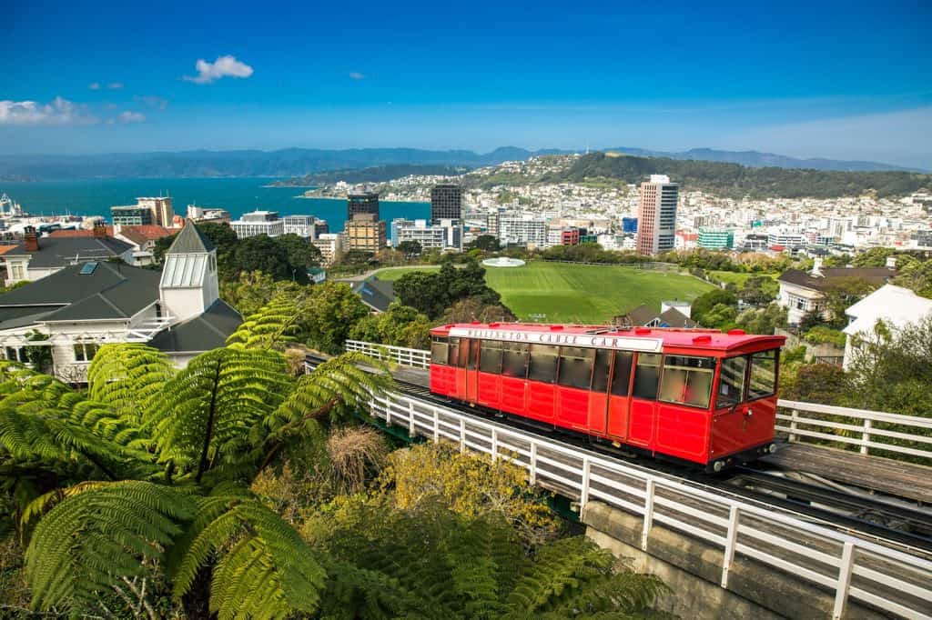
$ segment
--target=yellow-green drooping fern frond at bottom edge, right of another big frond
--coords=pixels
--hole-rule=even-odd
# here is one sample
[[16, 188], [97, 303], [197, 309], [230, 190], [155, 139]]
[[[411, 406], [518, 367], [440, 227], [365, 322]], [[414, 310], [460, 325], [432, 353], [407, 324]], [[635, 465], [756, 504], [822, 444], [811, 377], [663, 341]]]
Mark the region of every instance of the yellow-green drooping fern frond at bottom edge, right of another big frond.
[[313, 551], [288, 523], [252, 498], [200, 500], [194, 521], [171, 556], [176, 599], [213, 558], [218, 559], [210, 609], [221, 620], [283, 618], [313, 613], [320, 605], [325, 573]]

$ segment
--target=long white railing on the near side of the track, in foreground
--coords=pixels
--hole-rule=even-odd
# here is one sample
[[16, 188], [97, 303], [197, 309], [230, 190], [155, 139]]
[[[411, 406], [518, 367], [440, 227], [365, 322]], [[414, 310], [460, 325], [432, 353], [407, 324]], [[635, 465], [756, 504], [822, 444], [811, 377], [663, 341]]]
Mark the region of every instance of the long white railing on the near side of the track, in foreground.
[[907, 618], [932, 618], [932, 562], [910, 553], [418, 398], [385, 394], [373, 398], [370, 409], [411, 437], [452, 441], [461, 452], [523, 466], [531, 484], [581, 508], [598, 500], [637, 515], [645, 550], [653, 524], [720, 549], [722, 587], [728, 587], [734, 562], [749, 558], [828, 589], [833, 618], [841, 618], [852, 599]]

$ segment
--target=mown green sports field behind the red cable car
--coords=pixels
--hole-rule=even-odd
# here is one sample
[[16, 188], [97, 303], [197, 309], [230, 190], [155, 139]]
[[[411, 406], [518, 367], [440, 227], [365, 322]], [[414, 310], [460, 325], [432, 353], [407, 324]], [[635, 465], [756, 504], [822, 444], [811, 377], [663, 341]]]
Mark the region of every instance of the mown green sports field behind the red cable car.
[[[377, 276], [397, 279], [417, 270], [383, 270]], [[542, 261], [487, 267], [486, 281], [517, 317], [545, 315], [540, 320], [567, 323], [603, 323], [641, 303], [659, 312], [664, 300], [692, 300], [713, 288], [698, 278], [662, 271]]]

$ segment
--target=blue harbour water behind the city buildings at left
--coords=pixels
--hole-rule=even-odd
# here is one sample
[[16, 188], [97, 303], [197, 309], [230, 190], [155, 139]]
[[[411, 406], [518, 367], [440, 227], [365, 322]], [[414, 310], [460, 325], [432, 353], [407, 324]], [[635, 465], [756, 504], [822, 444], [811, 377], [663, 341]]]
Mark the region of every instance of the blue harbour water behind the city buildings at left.
[[[281, 215], [313, 215], [326, 220], [333, 232], [343, 230], [346, 200], [299, 198], [306, 188], [265, 187], [275, 179], [105, 179], [89, 181], [0, 182], [0, 193], [31, 215], [101, 215], [110, 218], [113, 205], [132, 205], [136, 196], [171, 195], [175, 212], [187, 205], [226, 209], [234, 219], [246, 211], [267, 209]], [[381, 219], [430, 217], [430, 203], [381, 202]]]

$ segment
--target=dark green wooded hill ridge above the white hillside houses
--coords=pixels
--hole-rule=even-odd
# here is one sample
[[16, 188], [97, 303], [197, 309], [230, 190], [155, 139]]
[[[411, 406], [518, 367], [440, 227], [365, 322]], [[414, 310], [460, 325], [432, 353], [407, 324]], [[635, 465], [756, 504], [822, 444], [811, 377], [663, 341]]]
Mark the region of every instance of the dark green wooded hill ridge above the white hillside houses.
[[609, 179], [638, 183], [651, 174], [666, 174], [692, 189], [741, 198], [863, 195], [886, 197], [932, 190], [932, 175], [912, 172], [839, 172], [795, 168], [747, 168], [738, 164], [592, 153], [566, 171], [544, 177], [547, 182]]

